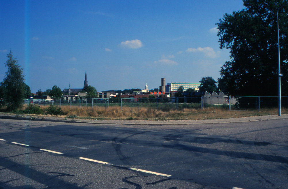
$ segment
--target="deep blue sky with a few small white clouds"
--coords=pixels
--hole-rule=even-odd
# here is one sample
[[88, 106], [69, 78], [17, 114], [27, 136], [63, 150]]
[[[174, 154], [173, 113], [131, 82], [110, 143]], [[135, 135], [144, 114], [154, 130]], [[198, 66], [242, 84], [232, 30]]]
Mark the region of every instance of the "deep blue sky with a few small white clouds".
[[98, 91], [158, 88], [220, 77], [229, 51], [215, 23], [241, 0], [0, 1], [0, 80], [7, 53], [32, 92], [53, 85]]

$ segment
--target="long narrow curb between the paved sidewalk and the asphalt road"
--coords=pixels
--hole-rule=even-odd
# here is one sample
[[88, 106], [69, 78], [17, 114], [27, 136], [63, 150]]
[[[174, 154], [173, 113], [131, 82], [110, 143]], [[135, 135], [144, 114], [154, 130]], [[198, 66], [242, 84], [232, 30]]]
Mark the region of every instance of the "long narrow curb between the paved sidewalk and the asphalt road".
[[[25, 120], [25, 121], [43, 121], [43, 122], [60, 122], [60, 123], [78, 123], [78, 124], [108, 124], [108, 125], [200, 125], [200, 124], [229, 124], [229, 123], [246, 123], [246, 122], [261, 122], [261, 121], [270, 121], [270, 120], [279, 120], [286, 119], [286, 117], [279, 118], [271, 118], [271, 119], [255, 119], [249, 121], [238, 121], [238, 122], [220, 122], [220, 123], [95, 123], [95, 122], [87, 122], [87, 121], [72, 121], [72, 120], [59, 120], [59, 119], [44, 119], [44, 118], [31, 118], [31, 117], [17, 117], [17, 116], [9, 116], [9, 115], [0, 115], [0, 119], [14, 119], [14, 120]], [[288, 119], [288, 118], [287, 118]]]

